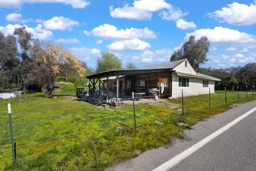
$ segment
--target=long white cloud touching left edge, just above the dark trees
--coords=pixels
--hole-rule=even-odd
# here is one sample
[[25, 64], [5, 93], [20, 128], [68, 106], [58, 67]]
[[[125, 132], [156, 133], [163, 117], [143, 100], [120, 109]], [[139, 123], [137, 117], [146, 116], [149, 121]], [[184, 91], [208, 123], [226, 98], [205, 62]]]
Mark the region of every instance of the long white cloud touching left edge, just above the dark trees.
[[[39, 40], [50, 40], [53, 36], [53, 33], [49, 30], [42, 29], [42, 24], [38, 24], [35, 28], [26, 27], [26, 30], [32, 34], [32, 38], [38, 38]], [[8, 24], [6, 27], [0, 27], [0, 31], [3, 32], [6, 36], [8, 34], [13, 34], [15, 28], [23, 27], [19, 24]]]

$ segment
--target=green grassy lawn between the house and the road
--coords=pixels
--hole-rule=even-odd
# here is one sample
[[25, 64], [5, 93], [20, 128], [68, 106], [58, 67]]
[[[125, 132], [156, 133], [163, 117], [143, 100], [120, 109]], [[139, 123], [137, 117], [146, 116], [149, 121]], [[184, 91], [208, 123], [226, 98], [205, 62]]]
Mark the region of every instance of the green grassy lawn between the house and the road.
[[[253, 93], [216, 91], [153, 104], [95, 106], [74, 100], [74, 86], [58, 83], [56, 98], [44, 93], [0, 100], [0, 170], [104, 170], [148, 149], [183, 138], [181, 131], [197, 121], [256, 99]], [[227, 97], [227, 100], [225, 99]], [[211, 103], [210, 103], [211, 101]], [[227, 104], [226, 104], [227, 101]], [[16, 164], [7, 104], [11, 103]], [[211, 108], [210, 108], [211, 104]], [[188, 126], [179, 126], [178, 123]]]

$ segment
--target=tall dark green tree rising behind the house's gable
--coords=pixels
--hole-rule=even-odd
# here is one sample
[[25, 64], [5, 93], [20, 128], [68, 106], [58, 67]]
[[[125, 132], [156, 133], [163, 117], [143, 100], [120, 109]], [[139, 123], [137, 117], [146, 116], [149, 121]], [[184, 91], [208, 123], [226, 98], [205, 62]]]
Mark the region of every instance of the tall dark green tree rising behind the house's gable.
[[206, 54], [209, 52], [210, 41], [206, 36], [202, 36], [195, 41], [195, 36], [190, 36], [188, 42], [182, 45], [179, 50], [172, 54], [170, 61], [176, 61], [187, 58], [193, 68], [198, 71], [200, 64], [204, 64]]

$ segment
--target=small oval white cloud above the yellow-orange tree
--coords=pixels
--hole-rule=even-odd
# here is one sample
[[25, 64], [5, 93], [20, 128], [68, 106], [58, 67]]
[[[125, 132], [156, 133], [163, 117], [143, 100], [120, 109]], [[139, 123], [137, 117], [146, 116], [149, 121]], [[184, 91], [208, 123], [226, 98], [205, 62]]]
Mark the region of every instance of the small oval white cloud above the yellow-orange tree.
[[50, 20], [43, 21], [42, 24], [48, 30], [72, 30], [72, 27], [78, 25], [79, 22], [64, 18], [63, 16], [54, 16]]

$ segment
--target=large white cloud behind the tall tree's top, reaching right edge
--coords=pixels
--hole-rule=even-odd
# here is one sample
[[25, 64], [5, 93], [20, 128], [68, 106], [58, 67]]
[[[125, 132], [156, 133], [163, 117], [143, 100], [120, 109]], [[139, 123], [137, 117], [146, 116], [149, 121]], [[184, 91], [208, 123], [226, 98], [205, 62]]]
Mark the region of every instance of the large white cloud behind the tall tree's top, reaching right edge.
[[238, 30], [232, 30], [229, 28], [215, 27], [214, 29], [200, 29], [195, 30], [192, 33], [187, 33], [184, 41], [188, 41], [188, 38], [194, 35], [196, 39], [200, 39], [201, 36], [207, 36], [211, 45], [241, 45], [246, 43], [255, 44], [256, 36], [247, 34], [245, 32], [239, 32]]

